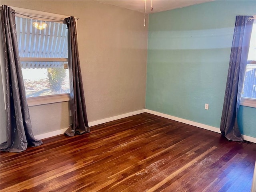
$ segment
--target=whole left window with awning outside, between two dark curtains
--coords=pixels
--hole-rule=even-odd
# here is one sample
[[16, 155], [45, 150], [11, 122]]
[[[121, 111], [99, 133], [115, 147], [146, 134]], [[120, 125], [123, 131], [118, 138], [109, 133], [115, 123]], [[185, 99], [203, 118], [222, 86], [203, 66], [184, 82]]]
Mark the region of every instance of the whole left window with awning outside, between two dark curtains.
[[[46, 18], [67, 17], [32, 10], [26, 13], [30, 11], [46, 14]], [[29, 106], [70, 100], [67, 25], [49, 20], [16, 14], [20, 63]]]

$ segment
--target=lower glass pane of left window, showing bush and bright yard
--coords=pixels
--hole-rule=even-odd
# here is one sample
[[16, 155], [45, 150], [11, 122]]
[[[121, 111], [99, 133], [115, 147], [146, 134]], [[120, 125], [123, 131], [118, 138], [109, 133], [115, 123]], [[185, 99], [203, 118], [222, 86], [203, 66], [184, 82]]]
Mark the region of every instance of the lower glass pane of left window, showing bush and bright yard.
[[[22, 62], [23, 64], [26, 62]], [[40, 62], [30, 62], [32, 65]], [[48, 66], [54, 62], [43, 62]], [[64, 63], [57, 62], [59, 67], [55, 68], [22, 68], [26, 97], [37, 97], [55, 94], [69, 93], [68, 69], [64, 69]]]

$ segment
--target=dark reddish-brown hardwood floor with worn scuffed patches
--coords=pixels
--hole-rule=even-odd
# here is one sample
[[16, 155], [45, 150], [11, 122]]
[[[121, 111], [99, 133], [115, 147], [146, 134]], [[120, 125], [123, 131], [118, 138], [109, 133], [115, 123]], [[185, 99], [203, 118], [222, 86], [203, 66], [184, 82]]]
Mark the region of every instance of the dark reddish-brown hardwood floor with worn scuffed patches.
[[1, 192], [249, 192], [256, 144], [139, 114], [1, 152]]

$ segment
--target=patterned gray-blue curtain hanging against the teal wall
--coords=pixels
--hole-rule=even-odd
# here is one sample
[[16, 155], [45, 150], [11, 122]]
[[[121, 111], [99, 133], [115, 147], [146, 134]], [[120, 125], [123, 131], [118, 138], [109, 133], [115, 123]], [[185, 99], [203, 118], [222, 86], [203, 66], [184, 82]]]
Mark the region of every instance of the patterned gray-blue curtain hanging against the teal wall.
[[228, 140], [243, 141], [238, 128], [237, 114], [244, 84], [244, 75], [252, 33], [252, 16], [236, 16], [230, 54], [228, 78], [220, 122], [220, 131]]

